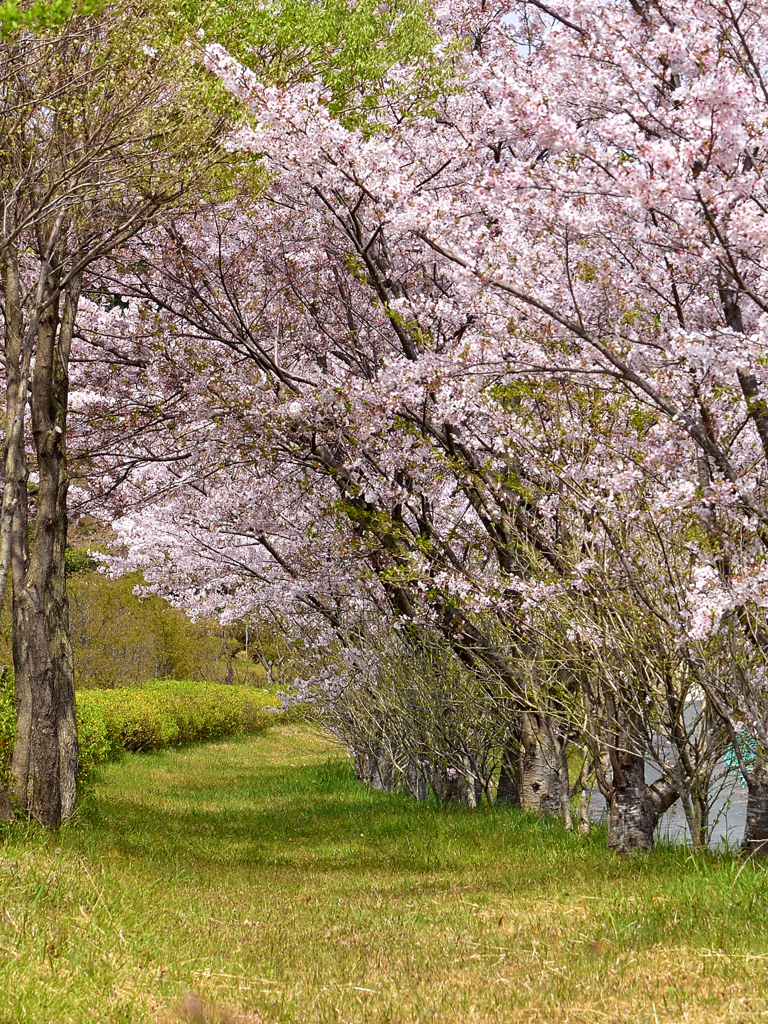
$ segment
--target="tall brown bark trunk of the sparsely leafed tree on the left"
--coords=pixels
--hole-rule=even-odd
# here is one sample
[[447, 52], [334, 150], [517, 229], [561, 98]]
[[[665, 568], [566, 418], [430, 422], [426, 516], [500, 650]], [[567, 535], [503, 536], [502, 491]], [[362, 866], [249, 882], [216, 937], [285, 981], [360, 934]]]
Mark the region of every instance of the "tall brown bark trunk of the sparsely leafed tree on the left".
[[[58, 825], [75, 806], [78, 741], [75, 679], [65, 579], [67, 547], [68, 362], [80, 282], [63, 313], [51, 301], [40, 318], [32, 374], [32, 433], [37, 454], [35, 540], [30, 552], [26, 503], [12, 529], [13, 667], [18, 707], [13, 751], [19, 808]], [[27, 470], [24, 472], [26, 489]], [[20, 480], [19, 480], [20, 484]]]

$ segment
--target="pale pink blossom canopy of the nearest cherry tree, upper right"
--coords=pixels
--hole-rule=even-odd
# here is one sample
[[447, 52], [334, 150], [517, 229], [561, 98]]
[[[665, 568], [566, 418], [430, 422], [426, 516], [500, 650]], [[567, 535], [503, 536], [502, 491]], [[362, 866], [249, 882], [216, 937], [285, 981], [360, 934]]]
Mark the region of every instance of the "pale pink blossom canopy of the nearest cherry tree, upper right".
[[[426, 349], [434, 361], [439, 350], [434, 333], [420, 348], [425, 290], [409, 290], [403, 272], [431, 258], [433, 278], [452, 282], [443, 323], [473, 317], [462, 341], [470, 351], [475, 343], [476, 361], [496, 342], [518, 377], [598, 380], [628, 397], [645, 423], [628, 436], [630, 451], [613, 454], [614, 492], [653, 472], [668, 504], [677, 496], [690, 509], [693, 497], [708, 509], [699, 521], [717, 511], [728, 522], [693, 545], [701, 583], [678, 595], [681, 605], [708, 626], [721, 611], [759, 607], [766, 11], [659, 3], [443, 13], [449, 36], [473, 41], [455, 57], [461, 86], [438, 117], [395, 116], [368, 136], [334, 119], [322, 90], [264, 90], [211, 48], [212, 66], [259, 121], [238, 144], [266, 155], [285, 202], [325, 213], [343, 233], [406, 359], [420, 362]], [[719, 550], [734, 530], [740, 564]], [[733, 702], [719, 707], [731, 727], [742, 720]], [[757, 759], [754, 806], [764, 801], [761, 771]], [[636, 759], [629, 787], [645, 794], [642, 772]], [[755, 820], [751, 811], [746, 843], [759, 845]]]

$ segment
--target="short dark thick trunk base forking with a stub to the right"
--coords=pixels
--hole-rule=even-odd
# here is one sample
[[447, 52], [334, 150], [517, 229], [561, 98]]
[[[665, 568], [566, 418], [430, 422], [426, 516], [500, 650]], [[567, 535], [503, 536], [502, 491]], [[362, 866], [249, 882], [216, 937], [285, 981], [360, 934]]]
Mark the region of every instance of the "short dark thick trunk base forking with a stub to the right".
[[617, 853], [650, 850], [658, 818], [679, 797], [675, 783], [645, 781], [645, 759], [628, 751], [611, 752], [613, 787], [608, 802], [608, 849]]

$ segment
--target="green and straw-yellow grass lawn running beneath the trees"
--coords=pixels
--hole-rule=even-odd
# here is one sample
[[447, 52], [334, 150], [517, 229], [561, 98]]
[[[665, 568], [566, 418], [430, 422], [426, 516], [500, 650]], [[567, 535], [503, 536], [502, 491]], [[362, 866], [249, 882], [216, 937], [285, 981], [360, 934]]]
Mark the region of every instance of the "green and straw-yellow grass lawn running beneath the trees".
[[371, 793], [306, 727], [0, 836], [0, 1024], [768, 1021], [762, 867]]

